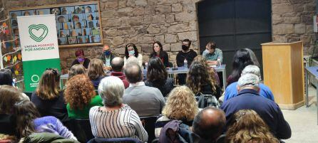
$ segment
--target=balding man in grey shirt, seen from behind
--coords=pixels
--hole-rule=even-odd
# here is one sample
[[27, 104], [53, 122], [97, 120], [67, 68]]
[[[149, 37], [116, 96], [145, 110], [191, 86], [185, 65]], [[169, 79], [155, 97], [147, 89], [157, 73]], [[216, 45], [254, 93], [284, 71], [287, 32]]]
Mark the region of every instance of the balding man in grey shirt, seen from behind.
[[128, 64], [124, 73], [130, 86], [125, 90], [123, 102], [139, 116], [160, 115], [165, 106], [165, 99], [157, 88], [145, 86], [140, 66], [134, 63]]

